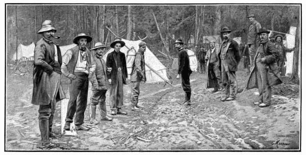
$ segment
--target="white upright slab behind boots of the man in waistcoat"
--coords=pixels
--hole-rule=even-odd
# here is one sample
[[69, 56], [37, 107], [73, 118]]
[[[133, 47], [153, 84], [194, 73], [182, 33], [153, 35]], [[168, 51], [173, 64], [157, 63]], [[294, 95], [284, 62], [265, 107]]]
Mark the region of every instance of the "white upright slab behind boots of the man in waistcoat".
[[74, 121], [70, 123], [70, 131], [64, 130], [65, 126], [65, 119], [67, 114], [67, 107], [68, 107], [69, 99], [63, 99], [61, 102], [61, 134], [63, 136], [77, 136], [77, 130], [75, 129]]

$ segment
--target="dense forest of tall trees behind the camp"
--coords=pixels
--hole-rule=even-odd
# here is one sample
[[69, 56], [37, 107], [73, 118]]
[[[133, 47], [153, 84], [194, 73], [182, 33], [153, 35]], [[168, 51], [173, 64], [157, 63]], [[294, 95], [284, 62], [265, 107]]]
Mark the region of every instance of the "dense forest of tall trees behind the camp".
[[[60, 46], [72, 44], [79, 33], [95, 42], [109, 45], [114, 39], [108, 28], [127, 40], [143, 39], [155, 54], [177, 54], [173, 42], [182, 38], [189, 45], [202, 44], [203, 36], [219, 35], [222, 26], [233, 30], [233, 37], [246, 41], [249, 14], [256, 15], [262, 27], [288, 33], [297, 27], [299, 47], [299, 5], [7, 5], [7, 56], [10, 59], [18, 44], [36, 43], [42, 21], [52, 20]], [[158, 26], [157, 26], [158, 25]], [[108, 28], [107, 28], [108, 27]], [[276, 34], [275, 34], [276, 35]], [[194, 38], [190, 42], [191, 37]], [[298, 52], [296, 52], [298, 53]], [[298, 54], [297, 54], [298, 58]]]

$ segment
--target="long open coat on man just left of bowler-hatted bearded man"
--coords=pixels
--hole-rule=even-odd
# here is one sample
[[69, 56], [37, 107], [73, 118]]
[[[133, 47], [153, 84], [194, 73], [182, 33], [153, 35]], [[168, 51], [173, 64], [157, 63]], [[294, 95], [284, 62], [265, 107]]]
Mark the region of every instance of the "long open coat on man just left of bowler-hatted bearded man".
[[[220, 51], [217, 48], [215, 48], [214, 52], [217, 52], [216, 54], [219, 55]], [[209, 49], [207, 51], [206, 55], [205, 55], [205, 60], [207, 61], [207, 64], [206, 64], [207, 69], [208, 69], [208, 66], [209, 66], [209, 61], [210, 61], [211, 55], [212, 55], [212, 50]], [[219, 59], [218, 56], [217, 56], [217, 59], [218, 59], [218, 61], [217, 61], [218, 69], [220, 70], [220, 68], [219, 68], [220, 59]], [[221, 73], [221, 70], [220, 70], [220, 73]], [[213, 79], [212, 79], [212, 75], [210, 74], [210, 71], [207, 70], [207, 72], [206, 72], [206, 88], [214, 88], [214, 86], [215, 85], [214, 85], [214, 82], [213, 82]]]

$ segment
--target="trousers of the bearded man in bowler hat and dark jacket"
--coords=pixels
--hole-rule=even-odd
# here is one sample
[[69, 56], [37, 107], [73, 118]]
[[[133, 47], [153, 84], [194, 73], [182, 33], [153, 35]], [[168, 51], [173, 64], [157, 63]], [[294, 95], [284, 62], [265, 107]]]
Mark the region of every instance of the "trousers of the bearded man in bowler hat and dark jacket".
[[221, 60], [222, 82], [225, 88], [225, 96], [236, 98], [237, 94], [237, 79], [236, 72], [230, 71], [225, 60]]

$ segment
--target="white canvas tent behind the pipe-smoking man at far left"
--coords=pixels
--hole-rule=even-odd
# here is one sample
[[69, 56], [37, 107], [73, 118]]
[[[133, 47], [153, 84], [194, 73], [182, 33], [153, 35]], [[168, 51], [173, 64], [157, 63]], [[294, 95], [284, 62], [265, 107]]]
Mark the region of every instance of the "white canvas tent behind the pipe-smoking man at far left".
[[[62, 56], [66, 53], [66, 51], [74, 46], [77, 46], [77, 44], [70, 44], [70, 45], [66, 45], [66, 46], [60, 46], [60, 49], [61, 49], [61, 53], [62, 53]], [[28, 46], [24, 46], [22, 44], [19, 44], [18, 47], [17, 47], [17, 53], [18, 53], [18, 57], [17, 59], [21, 58], [21, 57], [31, 57], [31, 56], [34, 56], [34, 49], [35, 49], [35, 44], [32, 43]], [[13, 55], [12, 61], [16, 60], [16, 53]]]

